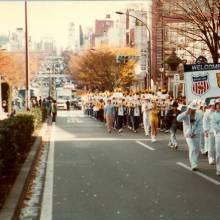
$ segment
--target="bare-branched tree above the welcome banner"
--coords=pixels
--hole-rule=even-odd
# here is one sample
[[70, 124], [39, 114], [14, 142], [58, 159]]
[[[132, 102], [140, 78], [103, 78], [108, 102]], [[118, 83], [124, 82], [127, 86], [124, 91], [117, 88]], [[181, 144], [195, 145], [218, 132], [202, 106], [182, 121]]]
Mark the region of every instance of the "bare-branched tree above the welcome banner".
[[[172, 26], [179, 34], [191, 41], [204, 43], [213, 62], [220, 58], [220, 0], [165, 0], [172, 5], [170, 16], [186, 25]], [[168, 16], [169, 17], [169, 16]], [[166, 19], [166, 16], [164, 16]]]

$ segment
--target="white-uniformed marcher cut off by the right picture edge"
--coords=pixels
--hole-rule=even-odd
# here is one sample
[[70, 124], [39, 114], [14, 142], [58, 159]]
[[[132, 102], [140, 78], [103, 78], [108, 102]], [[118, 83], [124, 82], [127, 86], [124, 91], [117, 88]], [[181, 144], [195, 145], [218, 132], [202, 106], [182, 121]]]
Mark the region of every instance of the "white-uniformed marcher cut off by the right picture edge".
[[220, 176], [220, 98], [215, 101], [215, 113], [211, 117], [211, 127], [215, 135], [216, 174]]

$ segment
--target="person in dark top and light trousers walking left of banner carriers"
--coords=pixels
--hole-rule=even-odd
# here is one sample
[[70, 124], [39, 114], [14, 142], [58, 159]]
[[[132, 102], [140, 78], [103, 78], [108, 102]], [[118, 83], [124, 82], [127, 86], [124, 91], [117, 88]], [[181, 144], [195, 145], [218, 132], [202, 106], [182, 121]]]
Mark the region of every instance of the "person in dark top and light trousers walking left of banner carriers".
[[174, 102], [172, 109], [170, 109], [167, 112], [167, 128], [170, 130], [170, 140], [168, 143], [168, 146], [170, 148], [174, 148], [177, 149], [178, 148], [178, 144], [177, 144], [177, 140], [176, 140], [176, 131], [177, 131], [177, 116], [180, 114], [180, 111], [178, 110], [178, 103]]

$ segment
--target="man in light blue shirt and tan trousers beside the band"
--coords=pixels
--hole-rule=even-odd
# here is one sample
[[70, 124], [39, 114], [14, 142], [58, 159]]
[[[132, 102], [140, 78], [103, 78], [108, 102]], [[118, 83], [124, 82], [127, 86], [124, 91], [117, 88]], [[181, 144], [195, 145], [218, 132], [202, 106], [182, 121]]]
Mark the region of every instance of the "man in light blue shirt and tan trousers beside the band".
[[115, 107], [114, 107], [114, 105], [112, 105], [111, 99], [108, 99], [107, 105], [104, 108], [104, 118], [106, 120], [107, 130], [109, 133], [112, 132], [114, 116], [115, 116]]

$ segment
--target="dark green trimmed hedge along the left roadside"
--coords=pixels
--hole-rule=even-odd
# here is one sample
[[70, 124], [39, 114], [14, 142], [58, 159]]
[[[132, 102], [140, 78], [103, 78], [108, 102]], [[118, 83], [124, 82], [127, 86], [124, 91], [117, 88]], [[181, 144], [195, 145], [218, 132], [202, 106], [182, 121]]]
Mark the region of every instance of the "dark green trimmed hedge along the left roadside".
[[0, 173], [28, 151], [32, 134], [44, 119], [44, 110], [35, 108], [0, 121]]

